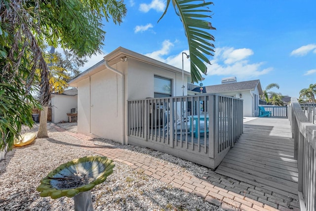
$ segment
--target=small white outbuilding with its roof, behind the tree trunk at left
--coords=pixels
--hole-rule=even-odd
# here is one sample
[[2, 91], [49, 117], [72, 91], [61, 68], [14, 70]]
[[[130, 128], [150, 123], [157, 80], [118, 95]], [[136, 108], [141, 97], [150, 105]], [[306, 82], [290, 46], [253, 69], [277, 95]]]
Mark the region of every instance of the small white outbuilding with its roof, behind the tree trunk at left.
[[63, 93], [51, 94], [51, 121], [53, 123], [68, 122], [68, 113], [76, 113], [78, 90], [71, 88]]

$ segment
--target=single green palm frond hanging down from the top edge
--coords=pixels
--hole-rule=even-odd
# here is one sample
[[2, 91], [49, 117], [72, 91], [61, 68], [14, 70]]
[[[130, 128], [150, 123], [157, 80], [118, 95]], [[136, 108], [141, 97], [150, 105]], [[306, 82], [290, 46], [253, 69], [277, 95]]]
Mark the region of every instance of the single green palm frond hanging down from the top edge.
[[[194, 1], [202, 1], [202, 3], [193, 3]], [[160, 19], [166, 14], [170, 0]], [[211, 18], [212, 11], [207, 6], [213, 2], [205, 2], [204, 0], [172, 0], [176, 14], [180, 17], [185, 35], [188, 39], [190, 58], [191, 58], [191, 80], [192, 82], [201, 81], [201, 73], [207, 74], [205, 63], [210, 64], [209, 56], [213, 56], [214, 36], [206, 32], [206, 30], [215, 30], [212, 24], [206, 20]], [[159, 19], [159, 20], [160, 20]], [[158, 20], [158, 22], [159, 22]]]

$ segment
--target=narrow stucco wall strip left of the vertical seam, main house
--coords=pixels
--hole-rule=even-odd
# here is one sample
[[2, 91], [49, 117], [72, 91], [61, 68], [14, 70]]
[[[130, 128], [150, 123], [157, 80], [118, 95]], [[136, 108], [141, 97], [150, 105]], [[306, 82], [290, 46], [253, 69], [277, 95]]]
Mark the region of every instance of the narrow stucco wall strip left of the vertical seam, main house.
[[78, 133], [90, 134], [89, 78], [78, 83]]

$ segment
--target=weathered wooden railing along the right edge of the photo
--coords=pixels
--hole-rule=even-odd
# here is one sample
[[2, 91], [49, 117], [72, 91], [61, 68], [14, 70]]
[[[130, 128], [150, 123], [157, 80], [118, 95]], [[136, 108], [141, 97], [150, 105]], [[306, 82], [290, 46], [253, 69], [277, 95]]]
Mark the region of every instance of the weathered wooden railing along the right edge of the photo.
[[290, 123], [294, 158], [298, 163], [301, 211], [316, 211], [316, 125], [311, 124], [296, 98], [291, 99]]

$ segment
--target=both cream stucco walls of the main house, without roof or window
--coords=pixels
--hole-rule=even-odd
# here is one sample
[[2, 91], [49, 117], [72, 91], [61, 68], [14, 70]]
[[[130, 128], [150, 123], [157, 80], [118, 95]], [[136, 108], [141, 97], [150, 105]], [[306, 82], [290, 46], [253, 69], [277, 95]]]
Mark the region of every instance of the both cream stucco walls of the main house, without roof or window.
[[123, 124], [127, 121], [127, 100], [154, 97], [155, 75], [171, 79], [173, 96], [182, 95], [182, 73], [173, 73], [129, 58], [127, 62], [118, 61], [112, 65], [112, 68], [124, 73], [123, 88], [119, 74], [105, 66], [97, 68], [99, 72], [78, 83], [79, 133], [120, 143], [125, 140], [126, 143], [126, 134], [123, 136], [126, 124]]

